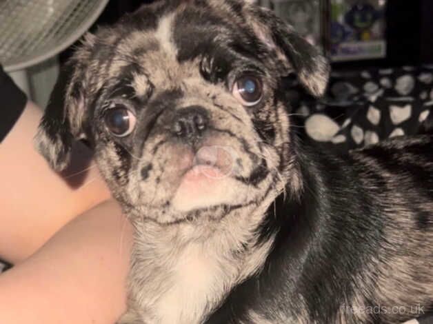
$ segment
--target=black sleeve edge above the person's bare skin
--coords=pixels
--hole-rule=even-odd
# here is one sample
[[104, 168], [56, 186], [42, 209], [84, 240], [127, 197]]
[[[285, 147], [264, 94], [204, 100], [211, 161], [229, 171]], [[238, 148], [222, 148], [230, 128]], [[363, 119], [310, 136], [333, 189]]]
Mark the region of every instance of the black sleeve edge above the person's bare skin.
[[27, 97], [0, 65], [0, 142], [12, 129], [26, 107]]

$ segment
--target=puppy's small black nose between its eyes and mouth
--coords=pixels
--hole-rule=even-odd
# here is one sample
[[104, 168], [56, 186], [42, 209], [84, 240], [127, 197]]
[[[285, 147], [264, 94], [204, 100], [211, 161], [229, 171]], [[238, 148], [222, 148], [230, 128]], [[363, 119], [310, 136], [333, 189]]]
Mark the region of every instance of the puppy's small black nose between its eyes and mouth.
[[172, 123], [172, 132], [184, 139], [196, 139], [208, 128], [209, 117], [205, 108], [192, 105], [177, 111]]

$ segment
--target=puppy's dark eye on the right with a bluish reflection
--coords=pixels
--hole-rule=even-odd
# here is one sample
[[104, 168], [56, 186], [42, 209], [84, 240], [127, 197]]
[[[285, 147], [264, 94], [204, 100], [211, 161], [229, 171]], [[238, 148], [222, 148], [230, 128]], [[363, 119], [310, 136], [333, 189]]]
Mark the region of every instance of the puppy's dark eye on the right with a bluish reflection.
[[240, 77], [234, 83], [232, 93], [243, 105], [250, 107], [261, 101], [263, 97], [263, 84], [256, 77]]

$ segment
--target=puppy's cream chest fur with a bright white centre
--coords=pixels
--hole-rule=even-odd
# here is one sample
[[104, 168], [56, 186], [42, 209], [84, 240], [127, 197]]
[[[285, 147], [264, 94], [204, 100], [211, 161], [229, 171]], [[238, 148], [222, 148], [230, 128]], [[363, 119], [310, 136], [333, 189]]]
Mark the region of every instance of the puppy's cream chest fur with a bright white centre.
[[[149, 324], [202, 323], [236, 283], [259, 270], [272, 245], [270, 240], [254, 253], [240, 252], [241, 241], [254, 241], [245, 226], [245, 231], [232, 228], [236, 234], [217, 228], [212, 234], [208, 229], [199, 233], [189, 225], [181, 230], [135, 226], [145, 233], [134, 244], [130, 298], [139, 306], [140, 320]], [[191, 240], [194, 236], [208, 239]]]

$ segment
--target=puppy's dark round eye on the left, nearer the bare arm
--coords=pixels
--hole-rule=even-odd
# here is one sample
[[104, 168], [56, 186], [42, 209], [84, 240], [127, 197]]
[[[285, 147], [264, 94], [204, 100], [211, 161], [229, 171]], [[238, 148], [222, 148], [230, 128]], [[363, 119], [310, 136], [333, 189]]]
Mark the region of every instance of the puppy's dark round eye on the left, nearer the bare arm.
[[134, 130], [136, 118], [124, 105], [117, 104], [105, 112], [104, 121], [114, 136], [125, 137]]

